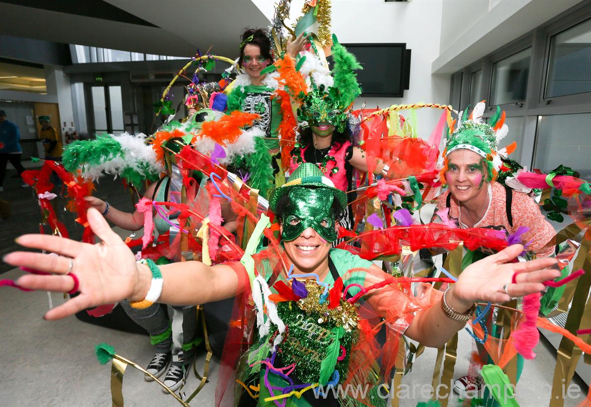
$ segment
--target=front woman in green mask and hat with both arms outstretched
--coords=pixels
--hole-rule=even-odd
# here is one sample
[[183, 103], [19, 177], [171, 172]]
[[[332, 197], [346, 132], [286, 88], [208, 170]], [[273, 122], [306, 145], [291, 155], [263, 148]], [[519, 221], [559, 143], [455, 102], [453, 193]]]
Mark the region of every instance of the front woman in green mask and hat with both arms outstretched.
[[[474, 302], [507, 301], [509, 295], [505, 287], [514, 296], [539, 292], [544, 289], [541, 282], [560, 275], [557, 270], [546, 269], [556, 264], [553, 259], [507, 263], [523, 249], [515, 245], [469, 266], [443, 298], [441, 293], [423, 286], [427, 291], [421, 298], [415, 298], [410, 286], [405, 288], [398, 280], [390, 281], [392, 277], [371, 262], [330, 247], [330, 240], [336, 237], [336, 220], [345, 205], [342, 190], [335, 188], [316, 166], [303, 164], [271, 195], [269, 207], [280, 220], [284, 248], [278, 248], [277, 252], [267, 250], [270, 255], [267, 257], [265, 251], [255, 254], [254, 244], [249, 245], [241, 263], [206, 266], [199, 261], [185, 261], [160, 266], [155, 273], [151, 267], [136, 263], [134, 255], [99, 212], [90, 209], [90, 226], [102, 240], [101, 244], [25, 235], [18, 238], [18, 243], [57, 252], [60, 256], [16, 252], [8, 254], [4, 260], [14, 266], [57, 274], [23, 276], [17, 281], [22, 288], [72, 290], [71, 274], [76, 274], [80, 295], [48, 311], [45, 315], [48, 320], [122, 299], [148, 301], [148, 296], [152, 302], [202, 304], [245, 293], [242, 304], [248, 306], [252, 301], [257, 310], [257, 337], [255, 344], [243, 353], [238, 367], [237, 374], [243, 372], [245, 376], [224, 376], [235, 371], [233, 364], [220, 367], [223, 372], [220, 371], [219, 377], [231, 379], [226, 379], [230, 382], [220, 379], [217, 402], [229, 401], [225, 396], [233, 397], [228, 390], [230, 383], [235, 385], [240, 380], [256, 388], [255, 382], [243, 380], [258, 378], [258, 404], [271, 406], [275, 401], [281, 405], [285, 402], [286, 406], [326, 405], [326, 399], [316, 398], [306, 389], [314, 389], [319, 383], [348, 382], [359, 374], [350, 370], [352, 366], [371, 365], [373, 360], [369, 360], [369, 354], [361, 357], [355, 353], [358, 347], [370, 342], [366, 339], [360, 343], [359, 335], [371, 332], [375, 324], [358, 314], [355, 296], [361, 296], [361, 289], [381, 283], [381, 288], [363, 296], [366, 303], [362, 306], [365, 311], [374, 310], [387, 322], [394, 318], [391, 325], [387, 323], [389, 327], [396, 327], [394, 337], [399, 338], [404, 333], [427, 346], [439, 347], [466, 324]], [[259, 236], [255, 233], [257, 240], [265, 223], [268, 224], [268, 219], [262, 217], [256, 231]], [[285, 268], [277, 267], [275, 272], [274, 266], [270, 269], [265, 266], [269, 262], [284, 263]], [[516, 272], [519, 274], [515, 283], [511, 283]], [[157, 280], [160, 285], [154, 283]], [[325, 311], [317, 314], [314, 310]], [[415, 315], [407, 310], [416, 311]], [[244, 314], [244, 309], [241, 312], [237, 315], [245, 318], [241, 319], [242, 323], [252, 326], [249, 324], [252, 314]], [[396, 315], [391, 315], [392, 312]], [[236, 343], [230, 341], [230, 345], [243, 343], [243, 336], [234, 338]], [[397, 349], [395, 347], [394, 352]], [[290, 369], [288, 374], [283, 373], [287, 372], [285, 369]], [[362, 374], [366, 373], [369, 372], [363, 370]], [[348, 377], [348, 374], [355, 377]], [[359, 380], [363, 383], [367, 377], [360, 376]], [[238, 379], [236, 383], [235, 378]], [[293, 393], [300, 391], [303, 392], [301, 398]], [[365, 402], [381, 405], [379, 398], [368, 398]]]

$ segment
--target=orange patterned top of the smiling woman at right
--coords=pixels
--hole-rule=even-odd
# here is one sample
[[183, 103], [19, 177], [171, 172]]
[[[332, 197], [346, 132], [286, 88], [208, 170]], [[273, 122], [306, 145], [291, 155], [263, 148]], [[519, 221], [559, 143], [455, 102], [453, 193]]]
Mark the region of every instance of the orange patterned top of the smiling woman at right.
[[[513, 217], [513, 226], [509, 225], [507, 219], [505, 187], [498, 182], [489, 184], [489, 205], [482, 219], [476, 222], [475, 228], [504, 228], [509, 233], [514, 233], [518, 227], [524, 226], [530, 228], [522, 235], [524, 243], [531, 241], [528, 250], [534, 251], [538, 257], [550, 256], [554, 252], [554, 245], [550, 240], [556, 234], [552, 225], [545, 219], [540, 212], [540, 206], [525, 193], [513, 191], [511, 202], [511, 215]], [[437, 209], [446, 208], [447, 195], [449, 191], [437, 197]], [[453, 196], [452, 196], [453, 198]], [[460, 228], [466, 228], [459, 220], [460, 213], [455, 199], [450, 200], [449, 218], [458, 219]]]

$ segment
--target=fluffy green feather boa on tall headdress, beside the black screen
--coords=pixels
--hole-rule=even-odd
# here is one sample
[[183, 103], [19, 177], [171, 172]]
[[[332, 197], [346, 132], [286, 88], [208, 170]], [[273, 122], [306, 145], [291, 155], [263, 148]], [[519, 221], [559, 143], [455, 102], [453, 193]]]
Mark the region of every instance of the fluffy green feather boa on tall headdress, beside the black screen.
[[340, 100], [339, 107], [344, 109], [361, 95], [355, 70], [363, 67], [357, 62], [355, 55], [339, 44], [335, 34], [333, 34], [332, 54], [335, 61], [335, 67], [332, 70], [335, 81], [330, 88], [330, 93], [333, 101]]

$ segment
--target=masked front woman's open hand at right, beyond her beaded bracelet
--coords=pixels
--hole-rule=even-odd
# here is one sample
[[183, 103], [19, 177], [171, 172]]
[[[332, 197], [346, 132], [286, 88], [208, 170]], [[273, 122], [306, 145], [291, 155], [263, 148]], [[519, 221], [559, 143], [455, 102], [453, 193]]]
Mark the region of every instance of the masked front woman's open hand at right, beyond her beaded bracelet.
[[[511, 297], [541, 292], [545, 288], [543, 282], [560, 276], [560, 271], [557, 269], [548, 269], [556, 265], [556, 259], [544, 258], [508, 263], [522, 251], [521, 244], [514, 244], [499, 253], [470, 264], [453, 285], [450, 291], [452, 295], [448, 293], [449, 305], [461, 312], [469, 309], [477, 301], [507, 302]], [[515, 277], [516, 283], [512, 284], [511, 279], [515, 273], [518, 273]], [[505, 285], [507, 285], [506, 291]]]

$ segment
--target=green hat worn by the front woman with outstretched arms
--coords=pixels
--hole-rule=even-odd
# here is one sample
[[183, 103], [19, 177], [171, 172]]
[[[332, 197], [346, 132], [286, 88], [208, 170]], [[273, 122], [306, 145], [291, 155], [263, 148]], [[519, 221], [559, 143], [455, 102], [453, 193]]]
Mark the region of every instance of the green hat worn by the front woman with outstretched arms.
[[347, 194], [342, 190], [335, 188], [335, 184], [325, 177], [315, 164], [303, 163], [291, 173], [286, 183], [271, 192], [271, 198], [269, 198], [269, 208], [271, 208], [271, 211], [275, 211], [277, 202], [294, 186], [329, 189], [332, 191], [335, 199], [339, 202], [341, 208], [345, 209], [347, 207]]

